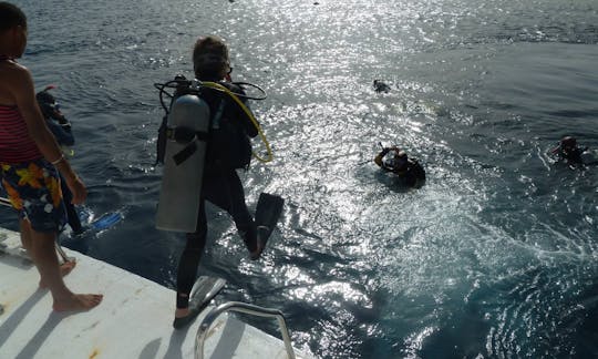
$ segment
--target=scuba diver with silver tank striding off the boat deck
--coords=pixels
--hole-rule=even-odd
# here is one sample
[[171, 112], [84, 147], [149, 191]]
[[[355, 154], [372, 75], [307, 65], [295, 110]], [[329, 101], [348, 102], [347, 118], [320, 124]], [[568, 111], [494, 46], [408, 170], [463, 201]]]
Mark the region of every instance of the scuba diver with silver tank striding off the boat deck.
[[[177, 76], [169, 82], [176, 83], [176, 92], [169, 111], [165, 107], [167, 116], [158, 135], [158, 162], [165, 167], [156, 227], [183, 232], [186, 237], [176, 279], [176, 329], [190, 324], [205, 305], [193, 298], [192, 287], [206, 245], [206, 201], [233, 217], [251, 260], [260, 257], [266, 244], [258, 235], [237, 174], [251, 160], [249, 139], [260, 133], [259, 124], [241, 102], [249, 96], [230, 80], [228, 47], [220, 38], [199, 38], [193, 64], [196, 80]], [[158, 88], [161, 99], [165, 86]]]

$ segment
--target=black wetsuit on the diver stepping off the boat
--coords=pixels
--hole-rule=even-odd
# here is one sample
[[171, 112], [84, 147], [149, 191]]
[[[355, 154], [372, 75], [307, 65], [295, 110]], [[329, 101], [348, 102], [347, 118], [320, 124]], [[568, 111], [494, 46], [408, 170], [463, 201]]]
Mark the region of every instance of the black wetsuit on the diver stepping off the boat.
[[[210, 81], [210, 80], [206, 80]], [[234, 92], [240, 92], [239, 88], [227, 84]], [[228, 131], [210, 131], [206, 161], [204, 165], [204, 180], [202, 185], [202, 198], [197, 217], [197, 229], [187, 233], [187, 244], [181, 261], [176, 279], [177, 308], [188, 307], [188, 294], [195, 283], [199, 259], [204, 253], [207, 237], [207, 218], [205, 202], [209, 201], [221, 209], [228, 212], [235, 222], [237, 230], [249, 252], [257, 249], [256, 224], [245, 203], [245, 192], [236, 168], [245, 166], [247, 151], [244, 150], [249, 137], [255, 137], [258, 132], [240, 106], [226, 93], [215, 90], [203, 90], [202, 98], [208, 103], [210, 114], [214, 116], [221, 109], [219, 127]], [[240, 98], [243, 100], [243, 98]], [[223, 107], [220, 103], [224, 100]], [[235, 132], [236, 131], [236, 132]], [[231, 135], [231, 133], [234, 133]], [[250, 148], [249, 148], [250, 155]], [[248, 164], [248, 163], [247, 163]]]

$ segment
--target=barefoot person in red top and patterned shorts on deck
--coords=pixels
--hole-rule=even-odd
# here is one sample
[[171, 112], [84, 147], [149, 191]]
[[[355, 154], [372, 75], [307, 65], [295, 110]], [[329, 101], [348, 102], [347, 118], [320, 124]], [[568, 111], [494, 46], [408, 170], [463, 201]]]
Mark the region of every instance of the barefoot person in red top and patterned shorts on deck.
[[82, 203], [86, 188], [64, 158], [48, 130], [35, 100], [29, 70], [14, 61], [27, 45], [27, 17], [0, 2], [0, 177], [12, 206], [19, 211], [21, 242], [40, 273], [40, 287], [52, 294], [58, 311], [87, 310], [102, 295], [73, 294], [62, 279], [74, 261], [59, 265], [55, 239], [66, 222], [59, 172]]

